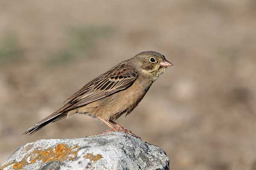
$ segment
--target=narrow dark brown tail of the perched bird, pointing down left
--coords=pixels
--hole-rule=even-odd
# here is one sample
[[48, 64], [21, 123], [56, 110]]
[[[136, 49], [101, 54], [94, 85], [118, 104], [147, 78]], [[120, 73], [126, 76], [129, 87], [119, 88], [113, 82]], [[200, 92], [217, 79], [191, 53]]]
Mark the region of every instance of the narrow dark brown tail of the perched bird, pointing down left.
[[49, 123], [56, 122], [58, 120], [64, 119], [67, 117], [67, 112], [54, 112], [51, 115], [47, 116], [40, 122], [36, 123], [34, 126], [30, 127], [28, 130], [26, 130], [23, 135], [32, 135], [33, 133], [40, 130], [42, 127]]

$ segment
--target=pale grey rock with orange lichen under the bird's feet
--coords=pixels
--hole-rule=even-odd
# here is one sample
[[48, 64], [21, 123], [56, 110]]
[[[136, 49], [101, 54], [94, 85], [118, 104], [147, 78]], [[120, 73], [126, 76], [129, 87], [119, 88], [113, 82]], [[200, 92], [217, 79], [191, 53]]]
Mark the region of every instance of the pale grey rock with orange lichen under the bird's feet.
[[0, 170], [169, 170], [169, 158], [155, 145], [115, 132], [28, 143]]

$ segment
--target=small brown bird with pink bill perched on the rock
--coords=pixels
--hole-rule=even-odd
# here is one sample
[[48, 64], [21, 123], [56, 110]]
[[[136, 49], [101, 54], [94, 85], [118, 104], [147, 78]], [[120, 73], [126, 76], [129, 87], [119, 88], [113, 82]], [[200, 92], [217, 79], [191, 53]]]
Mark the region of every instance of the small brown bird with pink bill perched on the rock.
[[131, 113], [152, 83], [169, 66], [172, 66], [172, 63], [167, 61], [163, 54], [155, 51], [141, 52], [88, 82], [70, 96], [63, 107], [30, 127], [23, 134], [32, 135], [49, 123], [79, 113], [93, 116], [107, 124], [111, 130], [105, 133], [121, 131], [134, 135], [131, 130], [125, 129], [114, 120], [124, 113], [125, 116]]

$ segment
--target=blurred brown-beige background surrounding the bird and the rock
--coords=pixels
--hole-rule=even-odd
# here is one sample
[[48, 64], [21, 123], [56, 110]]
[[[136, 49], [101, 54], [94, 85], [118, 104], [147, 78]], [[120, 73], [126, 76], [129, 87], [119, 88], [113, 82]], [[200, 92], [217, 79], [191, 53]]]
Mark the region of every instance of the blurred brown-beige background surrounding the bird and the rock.
[[255, 0], [0, 1], [0, 164], [28, 142], [108, 129], [76, 115], [21, 135], [148, 50], [174, 66], [117, 122], [163, 148], [173, 170], [256, 170]]

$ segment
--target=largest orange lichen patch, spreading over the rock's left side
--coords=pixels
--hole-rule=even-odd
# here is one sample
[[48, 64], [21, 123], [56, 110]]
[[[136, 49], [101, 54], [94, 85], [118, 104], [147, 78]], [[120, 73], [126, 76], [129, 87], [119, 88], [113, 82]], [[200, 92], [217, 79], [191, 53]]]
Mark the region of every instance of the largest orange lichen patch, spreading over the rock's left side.
[[[31, 147], [31, 146], [29, 146]], [[0, 169], [3, 169], [11, 164], [12, 168], [14, 170], [21, 170], [24, 166], [28, 164], [35, 163], [36, 161], [42, 161], [42, 162], [50, 162], [50, 161], [65, 161], [67, 159], [74, 159], [77, 156], [78, 149], [76, 149], [78, 146], [75, 146], [73, 148], [69, 147], [67, 144], [58, 144], [55, 148], [48, 148], [46, 150], [33, 150], [32, 153], [24, 157], [21, 161], [16, 162], [10, 162], [9, 164], [6, 164], [3, 167], [0, 167]], [[30, 159], [28, 160], [28, 158]]]

